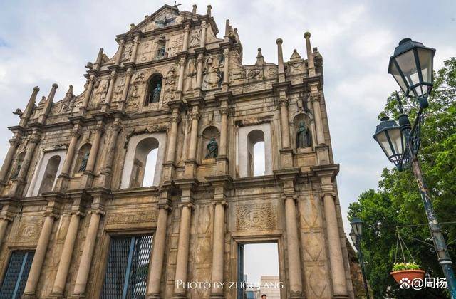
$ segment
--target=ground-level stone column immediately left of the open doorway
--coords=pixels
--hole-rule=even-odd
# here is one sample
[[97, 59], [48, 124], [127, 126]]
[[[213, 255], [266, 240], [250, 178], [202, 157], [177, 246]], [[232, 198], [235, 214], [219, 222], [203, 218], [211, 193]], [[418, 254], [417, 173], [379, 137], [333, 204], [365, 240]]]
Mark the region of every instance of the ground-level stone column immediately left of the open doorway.
[[215, 203], [214, 240], [212, 246], [212, 289], [211, 298], [224, 298], [223, 288], [215, 288], [215, 283], [224, 281], [224, 236], [225, 236], [225, 202]]

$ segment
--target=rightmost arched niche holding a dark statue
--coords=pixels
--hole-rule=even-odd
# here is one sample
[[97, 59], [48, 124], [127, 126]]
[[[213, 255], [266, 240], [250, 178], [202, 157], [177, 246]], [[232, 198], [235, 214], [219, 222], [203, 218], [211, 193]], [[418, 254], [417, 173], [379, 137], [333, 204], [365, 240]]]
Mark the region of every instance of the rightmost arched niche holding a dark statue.
[[[305, 134], [299, 136], [301, 130], [301, 124], [304, 125]], [[291, 142], [296, 152], [309, 151], [314, 148], [315, 145], [315, 124], [314, 119], [307, 113], [299, 113], [293, 118], [293, 127], [291, 128]], [[304, 137], [305, 136], [305, 137]], [[298, 147], [299, 138], [301, 142], [304, 142], [304, 147]], [[303, 140], [304, 139], [304, 140]]]

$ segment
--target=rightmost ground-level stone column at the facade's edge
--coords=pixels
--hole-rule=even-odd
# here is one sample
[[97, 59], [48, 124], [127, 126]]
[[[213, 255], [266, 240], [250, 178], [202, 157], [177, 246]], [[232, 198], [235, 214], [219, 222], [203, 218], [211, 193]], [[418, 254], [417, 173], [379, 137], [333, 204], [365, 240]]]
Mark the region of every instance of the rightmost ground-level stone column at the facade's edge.
[[345, 268], [343, 267], [343, 256], [341, 236], [336, 216], [336, 205], [334, 204], [336, 194], [323, 194], [323, 204], [326, 220], [326, 234], [329, 248], [329, 261], [331, 263], [331, 278], [333, 280], [334, 296], [346, 296], [347, 285]]

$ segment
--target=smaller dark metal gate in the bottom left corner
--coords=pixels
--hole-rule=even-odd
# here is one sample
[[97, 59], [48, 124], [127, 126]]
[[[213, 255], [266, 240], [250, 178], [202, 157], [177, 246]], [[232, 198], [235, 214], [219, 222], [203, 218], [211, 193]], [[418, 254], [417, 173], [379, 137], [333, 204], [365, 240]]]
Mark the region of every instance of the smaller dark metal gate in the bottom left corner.
[[21, 298], [34, 256], [33, 251], [14, 251], [1, 284], [0, 298]]

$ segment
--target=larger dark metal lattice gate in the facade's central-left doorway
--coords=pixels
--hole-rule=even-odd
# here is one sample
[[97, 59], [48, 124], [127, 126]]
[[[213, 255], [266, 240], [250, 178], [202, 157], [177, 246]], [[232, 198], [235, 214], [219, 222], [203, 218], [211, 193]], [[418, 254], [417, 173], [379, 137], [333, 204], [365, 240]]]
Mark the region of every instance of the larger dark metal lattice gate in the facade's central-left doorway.
[[112, 238], [101, 298], [145, 298], [152, 236]]

